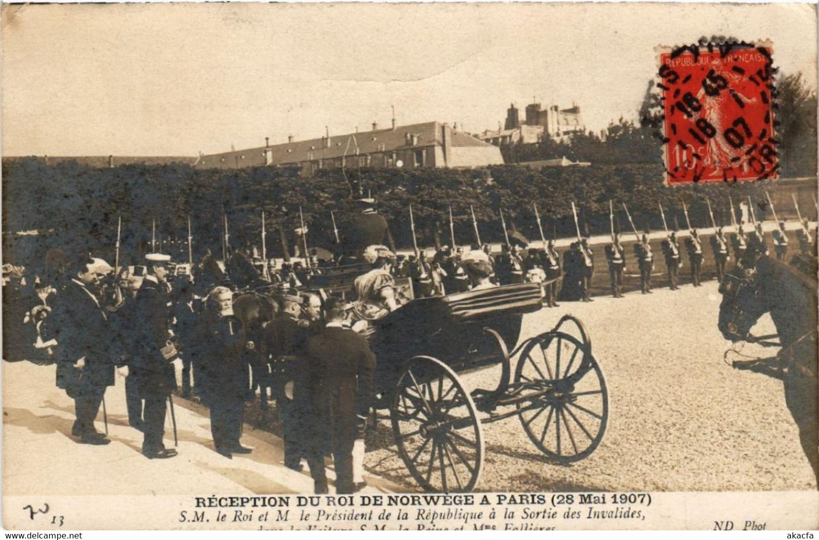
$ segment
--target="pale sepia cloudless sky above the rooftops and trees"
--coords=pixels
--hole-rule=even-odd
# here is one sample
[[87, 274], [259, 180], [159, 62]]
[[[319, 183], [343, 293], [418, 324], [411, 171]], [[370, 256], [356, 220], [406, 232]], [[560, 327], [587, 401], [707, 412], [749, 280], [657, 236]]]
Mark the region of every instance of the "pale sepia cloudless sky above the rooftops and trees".
[[438, 120], [510, 102], [635, 118], [656, 48], [770, 39], [815, 88], [808, 4], [2, 6], [2, 155], [195, 156]]

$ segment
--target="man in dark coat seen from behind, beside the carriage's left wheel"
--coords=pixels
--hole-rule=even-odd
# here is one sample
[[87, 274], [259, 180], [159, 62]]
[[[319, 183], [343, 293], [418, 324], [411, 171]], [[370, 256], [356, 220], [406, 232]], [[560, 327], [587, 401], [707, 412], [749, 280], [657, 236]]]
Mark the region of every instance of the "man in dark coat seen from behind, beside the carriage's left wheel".
[[321, 450], [329, 447], [336, 467], [336, 492], [352, 493], [353, 447], [373, 397], [375, 356], [366, 340], [342, 326], [343, 303], [325, 304], [326, 327], [307, 343], [310, 384], [317, 421], [311, 430], [308, 463], [316, 493], [328, 492]]

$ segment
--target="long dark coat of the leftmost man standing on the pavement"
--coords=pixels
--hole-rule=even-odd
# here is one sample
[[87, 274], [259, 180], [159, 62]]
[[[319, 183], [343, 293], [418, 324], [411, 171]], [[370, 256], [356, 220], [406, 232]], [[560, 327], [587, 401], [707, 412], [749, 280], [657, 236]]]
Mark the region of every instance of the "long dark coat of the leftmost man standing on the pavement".
[[[57, 338], [57, 387], [71, 396], [114, 385], [114, 359], [108, 320], [102, 308], [82, 285], [72, 281], [55, 301], [54, 334]], [[74, 364], [85, 358], [83, 370]]]

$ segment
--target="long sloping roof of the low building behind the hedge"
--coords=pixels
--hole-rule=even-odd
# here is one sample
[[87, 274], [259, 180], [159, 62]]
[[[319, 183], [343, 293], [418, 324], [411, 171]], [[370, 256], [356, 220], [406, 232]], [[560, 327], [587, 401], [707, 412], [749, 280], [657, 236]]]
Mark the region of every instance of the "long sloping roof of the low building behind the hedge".
[[[269, 147], [247, 148], [232, 152], [208, 154], [201, 156], [197, 166], [202, 168], [223, 166], [224, 162], [238, 166], [266, 165], [265, 152], [270, 152], [270, 164], [282, 165], [287, 163], [301, 163], [319, 159], [333, 159], [337, 157], [354, 157], [359, 154], [384, 152], [402, 147], [428, 147], [441, 145], [441, 126], [439, 122], [424, 122], [423, 124], [399, 125], [396, 129], [376, 129], [359, 133], [331, 135], [329, 144], [324, 147], [324, 137], [292, 143], [271, 144]], [[486, 147], [491, 146], [482, 140], [460, 131], [452, 131], [453, 147]], [[406, 135], [418, 137], [417, 143], [407, 145]]]

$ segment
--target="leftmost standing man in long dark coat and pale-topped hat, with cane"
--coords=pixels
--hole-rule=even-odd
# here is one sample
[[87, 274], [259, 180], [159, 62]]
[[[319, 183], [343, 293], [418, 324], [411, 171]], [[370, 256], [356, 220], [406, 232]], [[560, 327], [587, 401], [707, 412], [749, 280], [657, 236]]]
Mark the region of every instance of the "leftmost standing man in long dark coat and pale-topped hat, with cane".
[[57, 321], [57, 387], [74, 399], [76, 420], [71, 434], [83, 444], [111, 442], [94, 428], [106, 387], [114, 385], [108, 320], [92, 292], [111, 266], [101, 259], [79, 261], [54, 308]]

